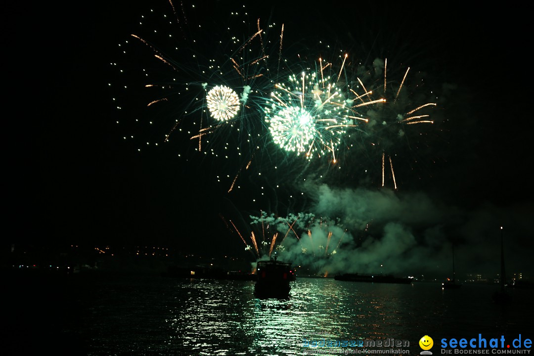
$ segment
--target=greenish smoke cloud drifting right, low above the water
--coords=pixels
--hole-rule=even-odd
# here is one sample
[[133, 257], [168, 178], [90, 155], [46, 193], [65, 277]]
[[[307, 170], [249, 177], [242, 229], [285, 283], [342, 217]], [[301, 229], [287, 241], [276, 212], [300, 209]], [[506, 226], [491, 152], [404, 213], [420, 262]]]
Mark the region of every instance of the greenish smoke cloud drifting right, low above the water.
[[[253, 224], [263, 220], [276, 226], [280, 239], [287, 234], [274, 251], [281, 260], [301, 266], [301, 273], [382, 273], [444, 279], [452, 276], [454, 247], [457, 278], [480, 273], [493, 279], [500, 269], [502, 224], [506, 225], [508, 278], [517, 272], [531, 273], [531, 266], [520, 262], [528, 258], [515, 257], [532, 248], [530, 238], [516, 236], [521, 231], [532, 236], [532, 227], [525, 223], [527, 217], [518, 213], [532, 211], [532, 207], [502, 209], [483, 204], [467, 211], [445, 206], [421, 192], [313, 183], [304, 190], [315, 197], [310, 209], [313, 213], [253, 219]], [[288, 225], [293, 222], [300, 239], [289, 232]], [[514, 235], [514, 239], [507, 240], [506, 235]]]

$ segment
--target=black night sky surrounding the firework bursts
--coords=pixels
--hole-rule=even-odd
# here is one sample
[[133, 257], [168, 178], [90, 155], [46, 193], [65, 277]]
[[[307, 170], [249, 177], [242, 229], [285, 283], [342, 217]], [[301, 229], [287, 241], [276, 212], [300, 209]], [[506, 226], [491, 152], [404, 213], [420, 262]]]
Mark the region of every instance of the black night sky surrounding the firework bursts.
[[[189, 5], [184, 2], [186, 8]], [[135, 145], [124, 143], [124, 128], [115, 123], [113, 93], [107, 85], [115, 73], [109, 63], [122, 58], [117, 43], [135, 33], [136, 20], [151, 6], [172, 13], [163, 0], [7, 5], [2, 21], [7, 61], [3, 132], [9, 167], [4, 170], [4, 195], [6, 221], [15, 224], [10, 229], [12, 242], [156, 243], [183, 251], [248, 256], [219, 213], [237, 219], [266, 209], [248, 199], [257, 194], [257, 187], [244, 183], [239, 194], [228, 194], [226, 183], [214, 181], [219, 163], [185, 161], [177, 157], [176, 146], [139, 153]], [[441, 226], [444, 234], [465, 247], [464, 260], [497, 256], [498, 227], [505, 225], [509, 254], [514, 255], [510, 259], [517, 260], [512, 269], [531, 268], [527, 11], [511, 4], [491, 8], [460, 2], [426, 7], [328, 2], [326, 9], [306, 3], [291, 5], [294, 9], [283, 3], [247, 6], [251, 18], [271, 15], [274, 22], [285, 23], [288, 51], [290, 43], [308, 46], [317, 38], [331, 38], [350, 56], [363, 60], [389, 60], [400, 53], [406, 66], [432, 78], [429, 82], [436, 90], [443, 90], [443, 83], [452, 85], [446, 105], [439, 108], [444, 120], [438, 134], [428, 140], [425, 157], [416, 172], [398, 167], [399, 189], [388, 195], [396, 199], [397, 194], [398, 207], [411, 207], [414, 214], [425, 211], [417, 206], [420, 197], [431, 202], [429, 210], [437, 217], [412, 221], [394, 213], [391, 219], [411, 226], [414, 235], [424, 235], [421, 231], [430, 225]], [[189, 24], [216, 19], [218, 9], [224, 8], [224, 3], [217, 3], [206, 18], [192, 17]], [[135, 65], [135, 56], [128, 60]], [[145, 60], [139, 59], [143, 65]], [[131, 98], [131, 107], [136, 107], [136, 100]], [[356, 196], [362, 193], [358, 189], [365, 189], [373, 199], [372, 194], [380, 191], [379, 184], [341, 181], [329, 186], [333, 196]], [[327, 199], [311, 196], [306, 204], [310, 211], [332, 212], [325, 208]], [[351, 213], [350, 207], [336, 209], [333, 218]], [[387, 223], [386, 217], [376, 220]], [[382, 229], [373, 234], [380, 239]]]

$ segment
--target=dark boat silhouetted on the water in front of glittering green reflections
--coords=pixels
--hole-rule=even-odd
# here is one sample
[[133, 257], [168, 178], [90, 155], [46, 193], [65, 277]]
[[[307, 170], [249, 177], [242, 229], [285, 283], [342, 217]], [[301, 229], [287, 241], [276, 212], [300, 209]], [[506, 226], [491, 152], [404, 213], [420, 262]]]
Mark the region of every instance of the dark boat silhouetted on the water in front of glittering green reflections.
[[256, 264], [256, 285], [254, 294], [258, 298], [287, 298], [289, 297], [289, 282], [295, 280], [295, 272], [291, 264], [281, 262], [277, 257], [270, 260], [258, 261]]

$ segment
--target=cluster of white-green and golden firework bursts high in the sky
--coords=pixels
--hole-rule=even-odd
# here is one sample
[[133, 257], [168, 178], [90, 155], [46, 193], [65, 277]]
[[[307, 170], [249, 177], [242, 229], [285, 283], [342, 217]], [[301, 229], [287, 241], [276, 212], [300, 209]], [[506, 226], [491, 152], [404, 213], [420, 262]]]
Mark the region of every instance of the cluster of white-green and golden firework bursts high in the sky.
[[[206, 176], [221, 183], [224, 192], [247, 194], [254, 210], [266, 199], [294, 207], [295, 196], [306, 193], [293, 182], [305, 178], [332, 184], [347, 177], [368, 181], [364, 175], [372, 165], [383, 168], [382, 180], [373, 172], [375, 186], [402, 180], [398, 174], [394, 181], [400, 165], [396, 154], [403, 154], [397, 147], [406, 145], [406, 132], [431, 126], [428, 115], [434, 108], [433, 101], [420, 100], [413, 69], [404, 67], [399, 74], [388, 64], [386, 75], [385, 63], [374, 70], [357, 59], [362, 53], [349, 57], [321, 41], [288, 46], [294, 29], [265, 22], [242, 5], [217, 10], [221, 21], [185, 18], [205, 18], [205, 10], [150, 12], [130, 41], [120, 44], [125, 60], [112, 65], [128, 85], [114, 86], [121, 91], [114, 104], [121, 110], [121, 100], [132, 97], [131, 82], [146, 99], [144, 111], [117, 119], [127, 131], [124, 140], [136, 151], [172, 146], [180, 159], [203, 164]], [[141, 55], [149, 65], [124, 67]], [[248, 192], [238, 193], [245, 185]], [[257, 194], [250, 193], [254, 189]], [[277, 241], [282, 240], [279, 235]]]

